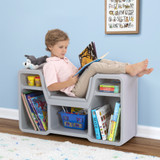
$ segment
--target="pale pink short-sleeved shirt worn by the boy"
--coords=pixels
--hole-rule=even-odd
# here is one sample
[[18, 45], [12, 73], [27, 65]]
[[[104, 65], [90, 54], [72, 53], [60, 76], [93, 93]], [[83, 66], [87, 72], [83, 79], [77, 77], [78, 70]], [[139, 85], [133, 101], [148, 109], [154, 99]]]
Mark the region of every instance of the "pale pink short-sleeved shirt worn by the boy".
[[[43, 67], [44, 78], [46, 86], [57, 82], [64, 82], [68, 78], [75, 74], [78, 69], [69, 61], [67, 57], [63, 59], [58, 57], [50, 57], [46, 59], [47, 63]], [[72, 93], [72, 89], [75, 85], [61, 89], [60, 91], [66, 93], [69, 96], [75, 96]]]

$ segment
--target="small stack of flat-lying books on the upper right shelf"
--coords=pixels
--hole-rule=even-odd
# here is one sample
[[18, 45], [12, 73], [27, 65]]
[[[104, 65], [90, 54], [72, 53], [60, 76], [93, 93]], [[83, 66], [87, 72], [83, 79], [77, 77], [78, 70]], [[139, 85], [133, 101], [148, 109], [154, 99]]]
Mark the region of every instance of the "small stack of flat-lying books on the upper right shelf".
[[99, 85], [99, 91], [107, 93], [119, 93], [119, 84], [103, 83]]

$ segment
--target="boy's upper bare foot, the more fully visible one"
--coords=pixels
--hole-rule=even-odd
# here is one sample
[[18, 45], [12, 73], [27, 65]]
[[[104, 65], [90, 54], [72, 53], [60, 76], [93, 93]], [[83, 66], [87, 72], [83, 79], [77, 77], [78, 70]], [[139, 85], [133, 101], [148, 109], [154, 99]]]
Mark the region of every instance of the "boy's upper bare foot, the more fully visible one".
[[148, 59], [145, 59], [142, 62], [126, 65], [126, 73], [130, 76], [136, 76], [147, 68]]

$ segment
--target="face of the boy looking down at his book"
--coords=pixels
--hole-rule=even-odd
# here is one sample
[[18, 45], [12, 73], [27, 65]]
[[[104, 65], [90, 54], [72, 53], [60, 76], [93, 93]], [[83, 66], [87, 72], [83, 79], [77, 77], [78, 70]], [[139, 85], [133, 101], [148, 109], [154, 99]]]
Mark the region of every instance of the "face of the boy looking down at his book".
[[59, 41], [54, 46], [48, 47], [51, 51], [51, 56], [52, 57], [55, 56], [55, 57], [59, 57], [59, 58], [64, 58], [64, 56], [67, 52], [68, 44], [69, 44], [69, 40]]

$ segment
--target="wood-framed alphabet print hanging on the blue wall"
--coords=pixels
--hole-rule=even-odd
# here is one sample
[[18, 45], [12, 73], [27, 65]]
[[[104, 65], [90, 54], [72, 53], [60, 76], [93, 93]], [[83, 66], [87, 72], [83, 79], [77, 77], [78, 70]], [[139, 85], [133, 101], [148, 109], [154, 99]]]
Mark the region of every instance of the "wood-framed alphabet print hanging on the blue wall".
[[105, 33], [139, 33], [139, 0], [105, 0]]

